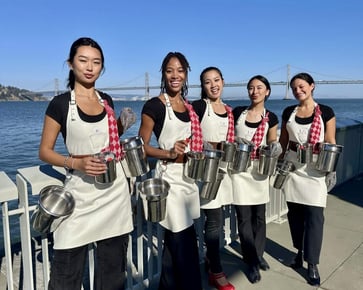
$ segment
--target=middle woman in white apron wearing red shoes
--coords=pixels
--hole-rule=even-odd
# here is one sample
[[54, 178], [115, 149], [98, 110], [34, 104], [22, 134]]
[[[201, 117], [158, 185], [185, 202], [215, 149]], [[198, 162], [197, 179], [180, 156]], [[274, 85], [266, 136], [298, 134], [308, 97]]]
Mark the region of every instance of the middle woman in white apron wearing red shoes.
[[[216, 67], [207, 67], [200, 74], [201, 99], [192, 103], [201, 121], [203, 140], [220, 149], [222, 141], [234, 142], [234, 119], [232, 109], [222, 102], [224, 80]], [[209, 284], [219, 290], [234, 290], [223, 272], [220, 259], [220, 235], [223, 233], [223, 206], [232, 204], [232, 182], [227, 171], [227, 162], [221, 162], [219, 170], [224, 172], [221, 185], [214, 200], [201, 198], [201, 208], [206, 220], [204, 240], [207, 248], [206, 265]]]

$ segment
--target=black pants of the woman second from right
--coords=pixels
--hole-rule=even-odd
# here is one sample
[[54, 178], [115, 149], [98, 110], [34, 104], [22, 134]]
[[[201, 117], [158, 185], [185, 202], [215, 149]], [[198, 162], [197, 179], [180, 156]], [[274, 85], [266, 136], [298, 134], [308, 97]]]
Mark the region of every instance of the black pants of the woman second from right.
[[266, 205], [236, 205], [241, 254], [249, 265], [258, 263], [266, 245]]

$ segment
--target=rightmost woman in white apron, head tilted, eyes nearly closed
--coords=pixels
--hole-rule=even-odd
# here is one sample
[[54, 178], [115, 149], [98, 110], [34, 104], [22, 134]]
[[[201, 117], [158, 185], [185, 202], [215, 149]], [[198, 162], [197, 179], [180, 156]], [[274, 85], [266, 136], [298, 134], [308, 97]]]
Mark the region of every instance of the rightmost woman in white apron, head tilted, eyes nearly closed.
[[[283, 186], [288, 206], [288, 221], [293, 246], [298, 253], [293, 268], [308, 263], [308, 282], [320, 285], [319, 264], [323, 241], [324, 208], [326, 207], [326, 174], [314, 168], [317, 143], [335, 144], [336, 121], [333, 110], [313, 99], [314, 79], [307, 73], [295, 75], [290, 81], [298, 105], [285, 108], [282, 114], [280, 143], [284, 159], [292, 161], [296, 170], [289, 174]], [[299, 163], [297, 146], [313, 145], [313, 163]]]

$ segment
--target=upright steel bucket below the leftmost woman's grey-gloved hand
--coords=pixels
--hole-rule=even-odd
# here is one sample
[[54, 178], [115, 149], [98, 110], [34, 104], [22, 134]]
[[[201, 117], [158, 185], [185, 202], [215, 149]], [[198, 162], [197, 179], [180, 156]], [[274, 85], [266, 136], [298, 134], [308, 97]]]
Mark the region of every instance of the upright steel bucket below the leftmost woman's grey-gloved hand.
[[[128, 168], [124, 168], [132, 177], [146, 174], [149, 170], [149, 163], [146, 158], [144, 141], [141, 136], [131, 137], [120, 141], [125, 151], [125, 160]], [[121, 162], [125, 166], [124, 162]]]

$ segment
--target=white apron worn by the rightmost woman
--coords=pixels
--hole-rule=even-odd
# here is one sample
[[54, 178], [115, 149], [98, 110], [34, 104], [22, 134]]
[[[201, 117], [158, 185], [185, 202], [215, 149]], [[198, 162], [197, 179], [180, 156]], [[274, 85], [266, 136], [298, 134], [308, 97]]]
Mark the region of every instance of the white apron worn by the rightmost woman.
[[[300, 144], [308, 141], [309, 130], [311, 124], [300, 125], [296, 123], [297, 108], [292, 112], [288, 122], [286, 123], [286, 129], [289, 133], [289, 140]], [[321, 131], [319, 142], [324, 141], [324, 123], [320, 116]], [[312, 206], [326, 206], [327, 188], [325, 184], [325, 174], [315, 170], [314, 165], [318, 155], [313, 154], [312, 164], [301, 164], [297, 162], [297, 153], [292, 150], [288, 150], [285, 155], [285, 159], [290, 160], [296, 166], [296, 170], [289, 174], [289, 178], [286, 179], [282, 192], [286, 196], [286, 201], [301, 203]]]

